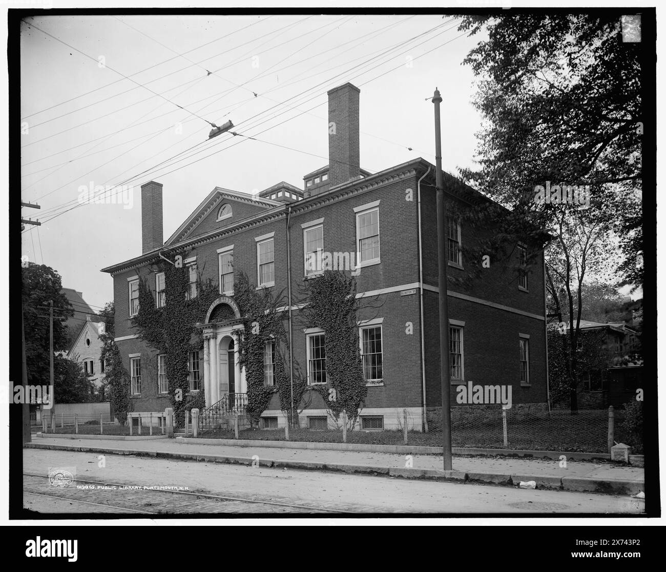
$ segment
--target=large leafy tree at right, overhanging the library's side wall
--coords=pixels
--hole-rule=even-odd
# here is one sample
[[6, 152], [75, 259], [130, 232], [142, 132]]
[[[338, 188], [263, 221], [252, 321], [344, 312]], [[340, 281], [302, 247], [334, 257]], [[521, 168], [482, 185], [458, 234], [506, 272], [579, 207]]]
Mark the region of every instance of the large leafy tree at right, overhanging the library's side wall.
[[[471, 35], [482, 27], [488, 40], [464, 60], [480, 78], [480, 167], [461, 174], [510, 210], [502, 234], [553, 239], [548, 289], [553, 313], [574, 323], [567, 369], [576, 411], [586, 273], [595, 267], [607, 273], [617, 239], [623, 259], [616, 269], [627, 281], [642, 282], [636, 262], [642, 253], [639, 51], [622, 42], [619, 16], [611, 13], [470, 15], [461, 24]], [[582, 187], [589, 202], [565, 203], [561, 195], [545, 201], [539, 191], [551, 184]]]

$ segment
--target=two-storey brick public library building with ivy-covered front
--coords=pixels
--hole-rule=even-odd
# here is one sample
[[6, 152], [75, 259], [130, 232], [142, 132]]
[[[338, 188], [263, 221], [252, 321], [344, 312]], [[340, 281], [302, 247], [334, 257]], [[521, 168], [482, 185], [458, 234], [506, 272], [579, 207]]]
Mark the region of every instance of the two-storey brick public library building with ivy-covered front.
[[[131, 375], [133, 411], [147, 414], [170, 407], [164, 359], [139, 339], [132, 317], [138, 311], [139, 277], [165, 302], [161, 251], [182, 253], [202, 279], [218, 284], [220, 297], [201, 325], [204, 351], [190, 353], [192, 393], [204, 388], [206, 406], [228, 393], [246, 393], [238, 365], [235, 331], [240, 312], [234, 302], [234, 274], [244, 271], [258, 287], [288, 292], [290, 283], [294, 359], [308, 383], [326, 382], [326, 332], [303, 329], [298, 285], [321, 270], [308, 267], [308, 253], [344, 253], [360, 268], [357, 296], [374, 299], [378, 308], [358, 324], [368, 395], [360, 429], [398, 428], [403, 412], [410, 428], [421, 430], [426, 418], [438, 423], [441, 410], [438, 247], [435, 167], [414, 159], [369, 173], [360, 168], [358, 101], [360, 90], [347, 83], [328, 92], [329, 165], [304, 177], [304, 190], [278, 183], [258, 195], [216, 187], [182, 225], [163, 241], [162, 185], [141, 186], [143, 253], [103, 269], [114, 281], [115, 341]], [[322, 133], [323, 135], [323, 133]], [[483, 195], [444, 173], [446, 201], [464, 208]], [[513, 250], [509, 267], [496, 263], [482, 279], [463, 289], [453, 279], [476, 261], [464, 259], [462, 247], [492, 236], [450, 219], [448, 285], [450, 315], [450, 395], [456, 387], [509, 385], [514, 407], [547, 407], [543, 251], [535, 263], [517, 270], [523, 247]], [[289, 263], [288, 263], [289, 261]], [[318, 264], [318, 263], [317, 263]], [[477, 263], [478, 264], [478, 263]], [[514, 271], [515, 269], [515, 271]], [[190, 295], [196, 295], [193, 289]], [[272, 384], [272, 348], [264, 348], [266, 383]], [[300, 414], [304, 427], [322, 428], [326, 404], [317, 391]], [[297, 404], [298, 405], [298, 404]], [[460, 407], [475, 407], [465, 405]], [[498, 405], [494, 405], [498, 407]], [[284, 426], [278, 396], [262, 414], [264, 426]]]

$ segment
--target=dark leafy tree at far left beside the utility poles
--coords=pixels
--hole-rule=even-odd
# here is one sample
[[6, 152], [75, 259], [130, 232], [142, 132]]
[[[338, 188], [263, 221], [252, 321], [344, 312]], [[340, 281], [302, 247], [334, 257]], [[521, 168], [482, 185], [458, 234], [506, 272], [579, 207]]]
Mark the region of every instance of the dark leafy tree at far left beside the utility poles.
[[[51, 267], [29, 264], [21, 269], [25, 356], [30, 385], [48, 385], [49, 300], [53, 300], [53, 351], [67, 349], [65, 321], [74, 310], [62, 290], [60, 275]], [[55, 369], [55, 366], [54, 366]]]

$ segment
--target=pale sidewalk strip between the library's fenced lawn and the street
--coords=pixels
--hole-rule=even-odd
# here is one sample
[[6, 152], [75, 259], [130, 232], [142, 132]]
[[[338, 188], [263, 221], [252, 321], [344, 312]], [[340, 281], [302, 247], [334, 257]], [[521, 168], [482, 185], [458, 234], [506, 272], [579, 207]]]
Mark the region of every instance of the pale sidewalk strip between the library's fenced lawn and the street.
[[[35, 437], [26, 445], [35, 449], [91, 451], [118, 455], [148, 455], [172, 459], [240, 463], [253, 461], [262, 466], [285, 469], [314, 469], [369, 473], [412, 479], [476, 481], [517, 486], [520, 481], [535, 481], [537, 489], [561, 489], [596, 493], [636, 494], [645, 491], [643, 469], [611, 463], [559, 460], [457, 457], [453, 471], [442, 470], [437, 455], [400, 455], [322, 449], [282, 449], [276, 447], [234, 447], [179, 443], [175, 439], [119, 441], [115, 439], [63, 439]], [[411, 459], [410, 459], [411, 457]]]

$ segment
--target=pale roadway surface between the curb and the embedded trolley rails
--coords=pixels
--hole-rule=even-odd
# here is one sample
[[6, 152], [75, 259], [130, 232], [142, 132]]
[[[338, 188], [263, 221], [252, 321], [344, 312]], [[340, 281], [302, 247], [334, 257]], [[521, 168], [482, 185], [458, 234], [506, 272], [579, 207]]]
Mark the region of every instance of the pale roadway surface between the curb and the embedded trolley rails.
[[[475, 485], [412, 481], [371, 475], [347, 475], [320, 471], [295, 471], [268, 467], [196, 463], [147, 457], [106, 455], [99, 467], [96, 453], [23, 450], [25, 473], [47, 474], [49, 467], [76, 467], [79, 479], [142, 486], [179, 486], [189, 491], [232, 496], [239, 499], [276, 501], [321, 509], [362, 513], [641, 513], [644, 501], [631, 497], [531, 491]], [[47, 489], [50, 487], [44, 479]], [[31, 489], [33, 490], [33, 489]], [[85, 491], [77, 497], [85, 500]], [[59, 493], [56, 493], [59, 494]], [[118, 491], [115, 504], [125, 491]], [[143, 493], [143, 497], [154, 493]], [[30, 496], [30, 495], [27, 495]], [[239, 503], [239, 506], [242, 503]], [[252, 505], [254, 512], [267, 512]], [[192, 503], [192, 512], [206, 512], [204, 505]], [[33, 505], [34, 509], [34, 505]], [[81, 509], [95, 512], [94, 507]], [[248, 509], [239, 509], [248, 512]]]

